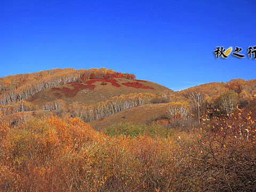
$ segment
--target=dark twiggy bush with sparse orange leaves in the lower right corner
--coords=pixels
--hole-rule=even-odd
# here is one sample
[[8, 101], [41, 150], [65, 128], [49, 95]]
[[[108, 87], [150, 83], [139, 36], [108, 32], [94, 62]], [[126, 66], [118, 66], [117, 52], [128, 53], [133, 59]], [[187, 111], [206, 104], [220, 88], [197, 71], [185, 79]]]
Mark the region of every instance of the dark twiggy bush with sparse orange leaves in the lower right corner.
[[245, 119], [239, 114], [232, 121], [215, 118], [197, 133], [191, 177], [202, 191], [256, 190], [256, 124], [250, 113]]

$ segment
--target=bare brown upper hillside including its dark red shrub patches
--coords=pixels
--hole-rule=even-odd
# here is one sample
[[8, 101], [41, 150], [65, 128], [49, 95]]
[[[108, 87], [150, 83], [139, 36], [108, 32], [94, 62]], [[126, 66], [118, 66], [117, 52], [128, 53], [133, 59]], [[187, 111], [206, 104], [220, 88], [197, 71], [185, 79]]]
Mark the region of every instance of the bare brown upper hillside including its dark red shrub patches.
[[170, 90], [157, 83], [136, 79], [115, 78], [114, 80], [95, 79], [94, 81], [92, 79], [88, 81], [89, 83], [68, 83], [55, 86], [37, 92], [29, 101], [37, 106], [43, 106], [46, 102], [57, 99], [65, 101], [67, 106], [76, 101], [80, 104], [95, 105], [121, 94], [157, 94], [164, 90]]

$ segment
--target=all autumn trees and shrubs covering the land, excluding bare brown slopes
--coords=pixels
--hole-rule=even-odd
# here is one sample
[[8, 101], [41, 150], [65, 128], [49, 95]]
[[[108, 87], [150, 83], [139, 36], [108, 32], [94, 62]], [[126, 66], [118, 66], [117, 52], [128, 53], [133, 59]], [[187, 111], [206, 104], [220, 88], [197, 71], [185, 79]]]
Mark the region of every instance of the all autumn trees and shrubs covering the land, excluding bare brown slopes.
[[[96, 83], [135, 91], [97, 104], [67, 105], [65, 97], [93, 92]], [[54, 91], [53, 101], [30, 102], [46, 89]], [[256, 79], [140, 92], [153, 89], [134, 74], [105, 68], [1, 77], [0, 190], [256, 190]], [[102, 130], [90, 125], [159, 103], [166, 103], [163, 115], [147, 124], [119, 123]], [[34, 115], [46, 110], [50, 115]]]

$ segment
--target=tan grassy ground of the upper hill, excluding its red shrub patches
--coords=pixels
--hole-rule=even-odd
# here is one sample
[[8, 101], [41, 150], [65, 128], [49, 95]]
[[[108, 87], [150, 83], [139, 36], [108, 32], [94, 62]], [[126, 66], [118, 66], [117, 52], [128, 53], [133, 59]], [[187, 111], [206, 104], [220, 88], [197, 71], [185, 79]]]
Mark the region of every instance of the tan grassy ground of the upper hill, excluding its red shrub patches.
[[[92, 83], [92, 85], [95, 85], [93, 90], [90, 89], [83, 89], [81, 91], [78, 91], [78, 93], [74, 97], [67, 97], [65, 94], [61, 93], [58, 96], [55, 96], [54, 93], [57, 93], [58, 91], [55, 91], [53, 89], [46, 89], [43, 91], [40, 91], [34, 95], [34, 97], [30, 98], [30, 102], [32, 102], [34, 105], [42, 106], [46, 102], [51, 102], [57, 99], [62, 99], [66, 102], [66, 106], [70, 105], [73, 102], [78, 102], [80, 104], [84, 103], [85, 105], [95, 105], [101, 101], [106, 101], [108, 99], [111, 99], [115, 96], [119, 96], [121, 94], [130, 94], [130, 93], [153, 93], [157, 94], [164, 90], [169, 90], [167, 87], [159, 85], [157, 83], [153, 82], [139, 82], [142, 85], [153, 87], [154, 89], [141, 89], [141, 88], [134, 88], [134, 87], [128, 87], [125, 85], [122, 85], [122, 83], [127, 82], [137, 82], [132, 79], [125, 79], [125, 78], [115, 78], [117, 79], [117, 83], [121, 85], [121, 87], [116, 87], [111, 85], [111, 83], [107, 83], [107, 85], [101, 85], [101, 82], [95, 82]], [[86, 84], [83, 84], [86, 85]], [[65, 84], [61, 86], [57, 86], [57, 88], [63, 89], [63, 87], [68, 87], [69, 89], [74, 89], [71, 84]]]

